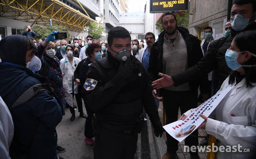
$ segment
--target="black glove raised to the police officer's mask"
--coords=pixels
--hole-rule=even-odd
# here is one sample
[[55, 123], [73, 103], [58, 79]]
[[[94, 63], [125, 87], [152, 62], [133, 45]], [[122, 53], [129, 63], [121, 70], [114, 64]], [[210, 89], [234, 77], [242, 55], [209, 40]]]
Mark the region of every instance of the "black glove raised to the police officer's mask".
[[120, 74], [126, 80], [131, 79], [134, 76], [133, 74], [134, 70], [133, 70], [130, 58], [127, 58], [126, 61], [123, 61], [123, 60], [120, 61], [120, 65], [117, 73]]

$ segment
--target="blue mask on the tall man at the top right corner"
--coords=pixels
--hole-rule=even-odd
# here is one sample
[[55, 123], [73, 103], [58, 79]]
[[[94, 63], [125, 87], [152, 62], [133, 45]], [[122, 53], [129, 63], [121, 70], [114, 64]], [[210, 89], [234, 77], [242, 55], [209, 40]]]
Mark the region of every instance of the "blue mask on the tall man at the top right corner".
[[233, 17], [233, 19], [230, 20], [231, 27], [235, 31], [239, 32], [239, 31], [241, 31], [241, 30], [243, 30], [243, 29], [245, 29], [247, 27], [247, 25], [249, 24], [249, 20], [250, 20], [250, 18], [243, 18], [243, 16], [241, 14], [236, 14]]

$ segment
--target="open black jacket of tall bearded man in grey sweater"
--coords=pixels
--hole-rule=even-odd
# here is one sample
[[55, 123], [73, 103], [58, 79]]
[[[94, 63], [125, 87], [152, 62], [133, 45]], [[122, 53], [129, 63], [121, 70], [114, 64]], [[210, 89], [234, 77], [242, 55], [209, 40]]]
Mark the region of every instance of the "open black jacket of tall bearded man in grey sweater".
[[[202, 57], [202, 49], [200, 46], [200, 41], [195, 36], [189, 34], [188, 29], [178, 26], [177, 30], [181, 33], [186, 46], [187, 46], [187, 58], [188, 58], [188, 68], [195, 65]], [[158, 41], [153, 44], [150, 51], [149, 57], [149, 67], [148, 67], [148, 77], [149, 80], [155, 81], [160, 76], [158, 73], [163, 72], [163, 41], [164, 41], [165, 32], [162, 31], [158, 37]], [[189, 86], [191, 90], [197, 89], [200, 83], [200, 89], [202, 93], [208, 92], [208, 81], [207, 81], [207, 73], [204, 73], [203, 78], [200, 80], [190, 80]]]

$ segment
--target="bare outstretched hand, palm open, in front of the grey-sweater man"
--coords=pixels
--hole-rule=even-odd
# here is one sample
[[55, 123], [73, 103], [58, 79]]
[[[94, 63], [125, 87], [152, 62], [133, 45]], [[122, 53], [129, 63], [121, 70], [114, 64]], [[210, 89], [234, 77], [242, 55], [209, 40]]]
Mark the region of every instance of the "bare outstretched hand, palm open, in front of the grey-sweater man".
[[155, 89], [160, 89], [160, 88], [164, 88], [164, 87], [170, 87], [171, 85], [174, 84], [172, 77], [163, 74], [163, 77], [155, 80], [152, 82], [153, 84], [151, 85], [153, 88]]

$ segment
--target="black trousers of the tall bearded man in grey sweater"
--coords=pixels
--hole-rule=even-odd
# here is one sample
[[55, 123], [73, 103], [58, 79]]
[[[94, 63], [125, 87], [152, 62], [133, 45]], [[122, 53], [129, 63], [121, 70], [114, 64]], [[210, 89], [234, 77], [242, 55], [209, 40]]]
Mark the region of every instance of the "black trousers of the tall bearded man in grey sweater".
[[[181, 114], [191, 108], [197, 107], [197, 90], [193, 91], [170, 91], [161, 90], [163, 97], [163, 107], [166, 114], [166, 125], [178, 120], [178, 111], [180, 108]], [[195, 130], [192, 135], [198, 135], [198, 130]], [[185, 139], [185, 144], [191, 147], [198, 145], [198, 139], [188, 136]], [[178, 150], [178, 141], [166, 133], [167, 152], [175, 153]], [[197, 153], [197, 152], [196, 152]]]

